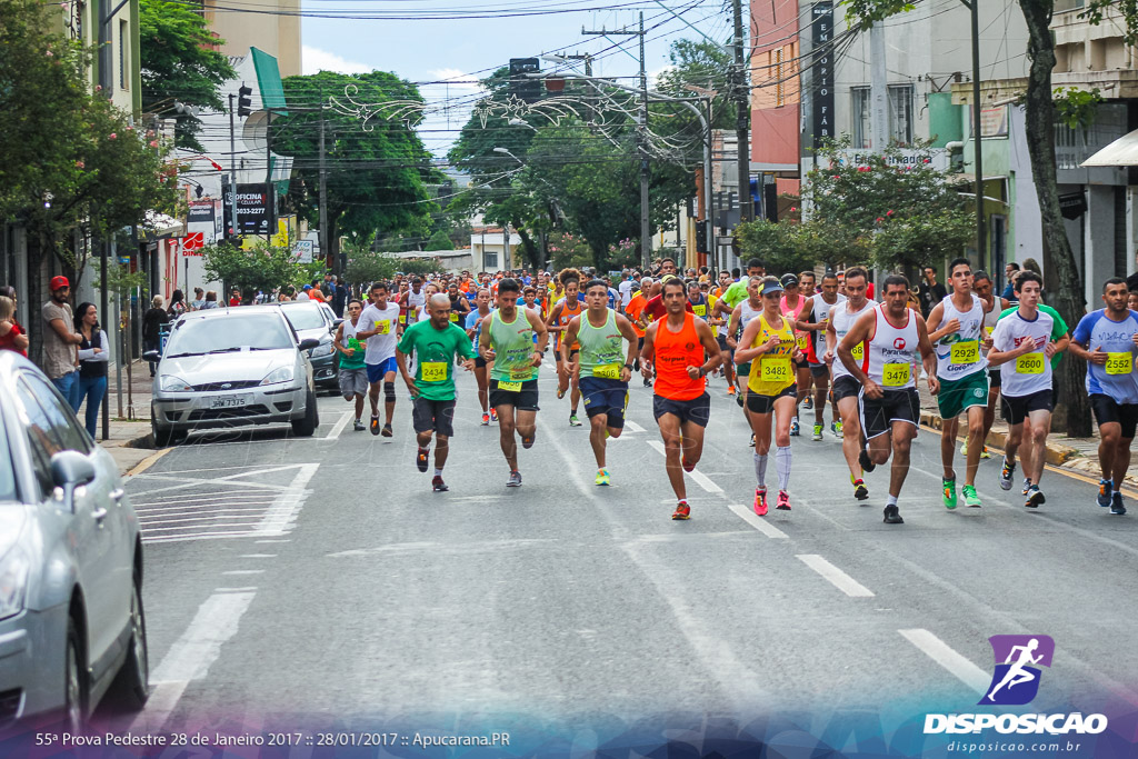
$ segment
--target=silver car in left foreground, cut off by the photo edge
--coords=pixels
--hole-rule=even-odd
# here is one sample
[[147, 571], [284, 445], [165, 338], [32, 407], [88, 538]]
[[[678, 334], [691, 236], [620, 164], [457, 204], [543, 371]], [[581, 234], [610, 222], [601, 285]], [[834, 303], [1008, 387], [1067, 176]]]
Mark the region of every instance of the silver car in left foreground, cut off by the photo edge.
[[118, 468], [30, 361], [0, 352], [0, 727], [149, 694], [142, 541]]

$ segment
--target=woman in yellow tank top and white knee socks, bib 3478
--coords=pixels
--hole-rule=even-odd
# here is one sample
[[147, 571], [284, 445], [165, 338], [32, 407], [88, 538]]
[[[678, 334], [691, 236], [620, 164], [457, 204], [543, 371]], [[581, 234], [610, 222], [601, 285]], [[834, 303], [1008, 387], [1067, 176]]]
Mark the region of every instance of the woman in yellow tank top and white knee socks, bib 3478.
[[[753, 278], [752, 281], [758, 278]], [[762, 312], [743, 330], [735, 350], [740, 363], [758, 362], [747, 383], [747, 409], [754, 431], [754, 513], [767, 513], [767, 453], [770, 451], [770, 414], [777, 412], [775, 429], [775, 471], [778, 475], [778, 502], [775, 509], [790, 511], [790, 427], [791, 411], [798, 396], [793, 361], [799, 356], [794, 323], [782, 314], [783, 286], [774, 277], [762, 280]]]

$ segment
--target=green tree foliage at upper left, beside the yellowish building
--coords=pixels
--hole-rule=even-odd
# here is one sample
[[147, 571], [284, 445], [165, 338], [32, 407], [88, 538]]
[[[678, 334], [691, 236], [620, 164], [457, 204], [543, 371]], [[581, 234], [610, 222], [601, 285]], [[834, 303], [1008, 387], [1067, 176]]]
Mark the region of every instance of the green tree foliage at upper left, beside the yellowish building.
[[201, 122], [178, 113], [175, 102], [223, 112], [218, 88], [237, 76], [229, 58], [199, 10], [183, 2], [139, 0], [139, 55], [142, 63], [142, 109], [176, 118], [180, 148], [201, 150], [197, 133]]

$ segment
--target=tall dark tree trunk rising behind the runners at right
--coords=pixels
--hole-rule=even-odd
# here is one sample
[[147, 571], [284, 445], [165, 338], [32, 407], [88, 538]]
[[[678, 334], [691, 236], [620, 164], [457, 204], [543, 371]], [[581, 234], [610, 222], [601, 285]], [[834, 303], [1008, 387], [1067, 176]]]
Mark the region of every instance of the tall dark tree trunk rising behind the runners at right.
[[[1026, 137], [1031, 156], [1031, 175], [1039, 197], [1044, 242], [1050, 253], [1053, 271], [1048, 280], [1058, 287], [1048, 288], [1046, 300], [1067, 325], [1074, 329], [1085, 313], [1083, 287], [1079, 267], [1067, 240], [1059, 212], [1058, 179], [1055, 162], [1055, 104], [1052, 100], [1052, 71], [1055, 68], [1055, 42], [1050, 20], [1054, 0], [1020, 0], [1028, 24]], [[1091, 434], [1090, 403], [1083, 386], [1086, 363], [1066, 355], [1059, 364], [1058, 397], [1064, 406], [1059, 415], [1066, 421], [1070, 437], [1089, 437]]]

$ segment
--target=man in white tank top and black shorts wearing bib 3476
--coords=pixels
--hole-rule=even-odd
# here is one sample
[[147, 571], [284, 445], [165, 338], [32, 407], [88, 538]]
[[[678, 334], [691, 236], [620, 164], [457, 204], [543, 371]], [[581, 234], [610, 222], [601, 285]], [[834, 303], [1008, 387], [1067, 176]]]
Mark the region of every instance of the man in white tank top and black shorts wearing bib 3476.
[[[850, 279], [850, 272], [846, 272], [847, 292]], [[902, 525], [905, 520], [898, 512], [897, 498], [909, 473], [909, 447], [921, 422], [921, 398], [913, 372], [917, 353], [933, 395], [940, 383], [937, 354], [929, 341], [924, 319], [907, 307], [909, 281], [900, 274], [890, 274], [884, 286], [884, 302], [873, 307], [872, 315], [865, 314], [857, 320], [838, 346], [838, 357], [861, 385], [861, 426], [868, 440], [867, 455], [860, 456], [863, 465], [866, 461], [873, 467], [883, 464], [892, 453], [884, 521]], [[858, 344], [865, 345], [866, 355], [861, 362], [853, 357], [853, 347]], [[871, 470], [871, 467], [865, 469]]]

